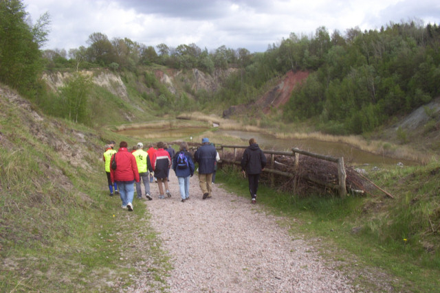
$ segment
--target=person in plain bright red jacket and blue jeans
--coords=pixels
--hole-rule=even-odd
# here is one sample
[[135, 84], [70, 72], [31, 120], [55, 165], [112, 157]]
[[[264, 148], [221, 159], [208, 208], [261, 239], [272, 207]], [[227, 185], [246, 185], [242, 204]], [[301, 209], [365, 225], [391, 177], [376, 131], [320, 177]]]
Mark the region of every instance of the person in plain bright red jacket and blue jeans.
[[[113, 161], [115, 161], [115, 169], [113, 169]], [[119, 143], [119, 150], [111, 157], [111, 182], [118, 183], [119, 193], [122, 200], [122, 209], [133, 211], [133, 183], [139, 182], [139, 171], [135, 156], [127, 150], [126, 141]]]

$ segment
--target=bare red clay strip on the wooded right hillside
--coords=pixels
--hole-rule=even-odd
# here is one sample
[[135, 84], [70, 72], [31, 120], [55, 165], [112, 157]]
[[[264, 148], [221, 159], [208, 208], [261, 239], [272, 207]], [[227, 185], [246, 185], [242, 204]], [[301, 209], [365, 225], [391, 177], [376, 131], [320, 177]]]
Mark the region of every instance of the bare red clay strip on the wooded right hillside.
[[288, 71], [283, 80], [274, 89], [265, 93], [255, 104], [261, 106], [265, 114], [269, 113], [271, 108], [283, 106], [289, 101], [296, 84], [300, 84], [308, 76], [307, 71]]

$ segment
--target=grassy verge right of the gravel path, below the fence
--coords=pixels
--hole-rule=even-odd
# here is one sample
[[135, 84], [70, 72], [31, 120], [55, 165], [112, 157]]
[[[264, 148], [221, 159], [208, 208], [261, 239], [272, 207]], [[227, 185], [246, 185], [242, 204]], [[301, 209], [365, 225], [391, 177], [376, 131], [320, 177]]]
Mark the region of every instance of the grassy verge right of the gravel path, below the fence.
[[[307, 196], [259, 189], [259, 203], [294, 235], [303, 235], [355, 284], [372, 292], [440, 292], [440, 167], [382, 170], [373, 177], [394, 196]], [[394, 167], [393, 167], [394, 168]], [[216, 180], [248, 197], [248, 183], [232, 167]]]

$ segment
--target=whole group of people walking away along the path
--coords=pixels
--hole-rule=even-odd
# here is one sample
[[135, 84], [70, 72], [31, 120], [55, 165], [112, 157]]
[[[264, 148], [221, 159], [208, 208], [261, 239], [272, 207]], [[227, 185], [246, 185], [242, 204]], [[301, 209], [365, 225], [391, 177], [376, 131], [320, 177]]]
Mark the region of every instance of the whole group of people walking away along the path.
[[[255, 139], [250, 139], [249, 148], [243, 152], [241, 168], [243, 174], [248, 174], [251, 202], [256, 203], [256, 193], [259, 177], [266, 165], [266, 158]], [[179, 152], [162, 141], [148, 145], [144, 151], [143, 143], [137, 143], [136, 150], [129, 152], [126, 141], [121, 141], [118, 151], [114, 150], [115, 142], [110, 141], [103, 154], [105, 172], [109, 184], [110, 196], [120, 194], [122, 208], [133, 211], [134, 186], [137, 198], [142, 198], [141, 179], [144, 184], [145, 198], [153, 200], [150, 194], [150, 183], [153, 178], [159, 187], [159, 199], [165, 195], [170, 198], [168, 176], [173, 168], [179, 181], [181, 202], [190, 198], [190, 177], [194, 175], [195, 163], [198, 164], [199, 186], [203, 194], [202, 199], [212, 197], [212, 183], [214, 183], [217, 162], [220, 160], [213, 143], [208, 138], [201, 140], [201, 146], [192, 156], [188, 151], [188, 144], [181, 142]]]

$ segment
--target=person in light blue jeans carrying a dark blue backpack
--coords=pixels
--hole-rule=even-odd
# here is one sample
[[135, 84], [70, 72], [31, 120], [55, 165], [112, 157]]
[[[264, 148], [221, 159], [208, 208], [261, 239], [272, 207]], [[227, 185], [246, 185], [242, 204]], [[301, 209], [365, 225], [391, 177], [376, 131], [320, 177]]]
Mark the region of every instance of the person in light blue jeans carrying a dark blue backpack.
[[173, 159], [173, 170], [179, 180], [181, 202], [190, 199], [190, 177], [194, 175], [194, 162], [188, 152], [188, 144], [184, 141], [180, 143], [179, 152]]

